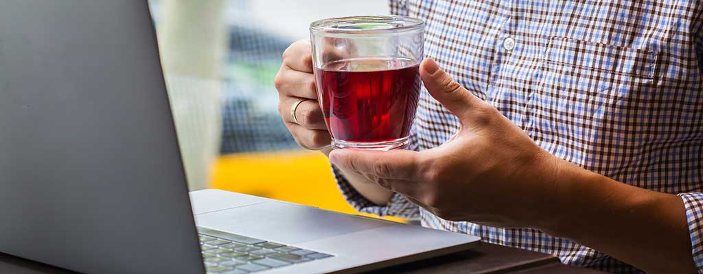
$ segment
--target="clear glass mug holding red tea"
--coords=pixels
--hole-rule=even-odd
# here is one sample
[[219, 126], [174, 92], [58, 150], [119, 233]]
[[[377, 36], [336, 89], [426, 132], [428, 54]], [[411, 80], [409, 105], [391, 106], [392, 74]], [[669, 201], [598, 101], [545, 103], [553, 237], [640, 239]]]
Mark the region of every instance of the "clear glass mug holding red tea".
[[310, 25], [318, 101], [337, 149], [402, 149], [420, 97], [422, 20], [356, 16]]

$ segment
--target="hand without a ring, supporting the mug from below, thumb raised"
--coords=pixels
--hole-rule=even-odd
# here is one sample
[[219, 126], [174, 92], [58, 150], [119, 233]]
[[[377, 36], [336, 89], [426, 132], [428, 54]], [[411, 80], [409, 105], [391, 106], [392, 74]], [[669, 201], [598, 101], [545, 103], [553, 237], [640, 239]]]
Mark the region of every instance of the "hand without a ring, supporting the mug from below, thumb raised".
[[[452, 221], [534, 226], [533, 206], [548, 204], [557, 185], [548, 175], [557, 160], [498, 110], [453, 81], [431, 59], [420, 76], [432, 97], [461, 128], [449, 142], [425, 151], [337, 149], [330, 161], [354, 170]], [[539, 203], [537, 203], [539, 202]]]

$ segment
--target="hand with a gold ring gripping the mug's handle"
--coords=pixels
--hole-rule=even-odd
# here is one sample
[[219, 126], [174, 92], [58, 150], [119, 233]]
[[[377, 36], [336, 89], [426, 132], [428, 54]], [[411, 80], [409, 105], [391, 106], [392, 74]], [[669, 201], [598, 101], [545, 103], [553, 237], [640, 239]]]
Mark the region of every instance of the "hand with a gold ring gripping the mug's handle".
[[[308, 40], [292, 43], [283, 52], [283, 64], [276, 74], [278, 90], [278, 112], [286, 128], [300, 146], [305, 149], [324, 149], [329, 153], [330, 133], [325, 125], [322, 109], [317, 99], [315, 76], [313, 75], [311, 45]], [[294, 104], [295, 122], [290, 111]]]

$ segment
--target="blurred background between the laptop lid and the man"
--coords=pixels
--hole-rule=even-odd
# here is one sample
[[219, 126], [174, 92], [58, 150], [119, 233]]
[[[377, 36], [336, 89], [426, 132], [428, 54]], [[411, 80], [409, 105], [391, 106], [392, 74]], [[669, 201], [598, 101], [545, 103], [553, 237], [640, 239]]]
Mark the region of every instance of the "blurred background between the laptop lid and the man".
[[[283, 50], [314, 20], [388, 14], [382, 0], [151, 0], [191, 190], [224, 189], [358, 214], [327, 158], [299, 149], [278, 114]], [[394, 221], [402, 221], [400, 219]]]

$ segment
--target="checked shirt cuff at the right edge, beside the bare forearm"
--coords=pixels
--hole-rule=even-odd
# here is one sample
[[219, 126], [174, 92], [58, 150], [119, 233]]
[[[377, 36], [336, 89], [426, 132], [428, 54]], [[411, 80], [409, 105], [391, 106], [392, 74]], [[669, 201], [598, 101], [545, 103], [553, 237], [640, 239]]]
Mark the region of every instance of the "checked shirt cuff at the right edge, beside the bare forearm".
[[698, 273], [703, 273], [703, 193], [681, 193], [678, 196], [683, 199], [686, 208], [693, 261]]

